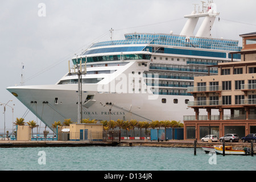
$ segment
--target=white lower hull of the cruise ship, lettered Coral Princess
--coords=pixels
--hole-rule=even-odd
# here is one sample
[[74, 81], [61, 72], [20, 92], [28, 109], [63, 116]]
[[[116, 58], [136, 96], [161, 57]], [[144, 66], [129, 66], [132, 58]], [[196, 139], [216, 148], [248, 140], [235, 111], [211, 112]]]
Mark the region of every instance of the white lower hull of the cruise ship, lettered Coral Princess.
[[[83, 85], [86, 88], [86, 84]], [[90, 85], [89, 85], [90, 86]], [[18, 94], [19, 100], [41, 119], [48, 127], [55, 121], [63, 122], [71, 118], [77, 122], [77, 84], [72, 85], [42, 85], [42, 86], [16, 86], [8, 88], [10, 92]], [[82, 118], [108, 120], [113, 119], [137, 119], [138, 121], [183, 121], [183, 115], [193, 114], [192, 109], [187, 108], [185, 100], [193, 100], [192, 96], [158, 96], [154, 100], [148, 100], [147, 93], [98, 93], [85, 91], [82, 98], [94, 95], [96, 102], [89, 108], [82, 107]], [[58, 103], [55, 104], [55, 98]], [[167, 103], [162, 104], [162, 98]], [[179, 102], [174, 104], [174, 99]], [[104, 106], [106, 102], [112, 102], [113, 106]], [[116, 107], [115, 107], [116, 106]], [[110, 110], [111, 109], [111, 114]]]

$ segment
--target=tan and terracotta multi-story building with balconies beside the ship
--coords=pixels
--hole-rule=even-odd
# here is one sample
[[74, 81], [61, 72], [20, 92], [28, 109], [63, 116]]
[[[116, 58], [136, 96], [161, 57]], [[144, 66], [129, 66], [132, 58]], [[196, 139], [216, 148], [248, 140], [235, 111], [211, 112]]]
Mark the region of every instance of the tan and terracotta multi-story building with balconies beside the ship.
[[256, 32], [240, 36], [242, 50], [230, 54], [241, 54], [241, 61], [209, 66], [217, 67], [218, 75], [195, 77], [194, 87], [188, 88], [195, 98], [188, 107], [195, 115], [184, 116], [184, 139], [256, 133]]

